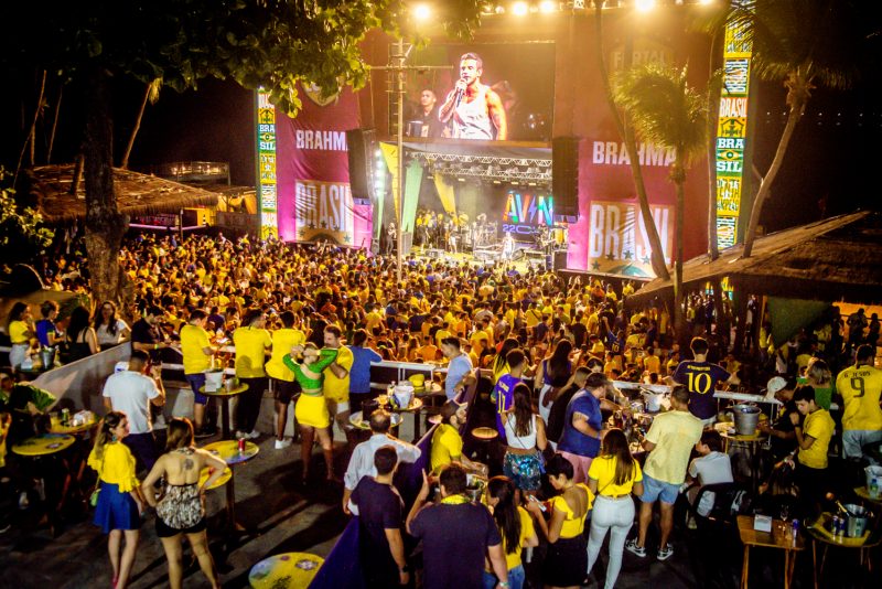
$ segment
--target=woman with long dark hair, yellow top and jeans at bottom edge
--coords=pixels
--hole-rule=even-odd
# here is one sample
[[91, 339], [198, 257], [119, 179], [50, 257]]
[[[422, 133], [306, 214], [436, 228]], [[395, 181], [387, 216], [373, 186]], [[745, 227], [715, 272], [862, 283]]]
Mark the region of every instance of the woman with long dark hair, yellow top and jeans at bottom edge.
[[[508, 587], [521, 589], [526, 574], [520, 560], [524, 548], [539, 545], [539, 537], [530, 520], [530, 514], [516, 501], [515, 483], [505, 476], [494, 476], [487, 482], [487, 506], [503, 538], [505, 567], [508, 569]], [[484, 570], [484, 589], [493, 589], [498, 579], [492, 569]]]

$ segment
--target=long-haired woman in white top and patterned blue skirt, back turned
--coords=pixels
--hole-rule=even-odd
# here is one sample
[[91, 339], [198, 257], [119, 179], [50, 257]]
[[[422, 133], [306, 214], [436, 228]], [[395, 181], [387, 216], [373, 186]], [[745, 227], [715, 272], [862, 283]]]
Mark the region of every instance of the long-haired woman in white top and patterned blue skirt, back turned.
[[513, 390], [512, 410], [503, 415], [508, 447], [503, 459], [503, 472], [515, 486], [529, 495], [541, 486], [542, 450], [548, 445], [545, 421], [533, 413], [530, 389], [519, 383]]

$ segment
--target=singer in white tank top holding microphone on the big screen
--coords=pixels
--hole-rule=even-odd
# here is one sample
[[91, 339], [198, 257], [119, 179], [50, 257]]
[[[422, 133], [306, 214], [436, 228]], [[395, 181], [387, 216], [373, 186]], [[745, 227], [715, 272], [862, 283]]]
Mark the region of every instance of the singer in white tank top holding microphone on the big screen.
[[453, 138], [505, 140], [508, 137], [499, 95], [481, 83], [483, 68], [477, 53], [460, 57], [460, 79], [438, 111], [441, 122], [450, 122]]

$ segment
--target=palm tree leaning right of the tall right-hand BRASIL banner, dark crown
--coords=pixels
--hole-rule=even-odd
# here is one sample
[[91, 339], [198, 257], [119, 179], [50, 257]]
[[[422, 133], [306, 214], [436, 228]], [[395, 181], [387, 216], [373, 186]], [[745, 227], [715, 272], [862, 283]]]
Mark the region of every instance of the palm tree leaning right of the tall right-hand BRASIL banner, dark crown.
[[744, 236], [743, 257], [751, 256], [760, 214], [781, 171], [797, 122], [817, 86], [847, 89], [859, 77], [864, 44], [878, 40], [876, 25], [859, 0], [739, 0], [741, 10], [755, 9], [747, 32], [753, 39], [753, 68], [762, 78], [787, 88], [787, 122], [775, 157], [760, 182]]

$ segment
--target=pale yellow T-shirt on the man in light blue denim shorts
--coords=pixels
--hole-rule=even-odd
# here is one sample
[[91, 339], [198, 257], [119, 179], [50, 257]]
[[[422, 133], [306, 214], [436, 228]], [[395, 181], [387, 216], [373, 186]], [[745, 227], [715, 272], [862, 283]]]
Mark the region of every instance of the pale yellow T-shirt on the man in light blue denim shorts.
[[692, 447], [701, 439], [701, 420], [689, 411], [667, 411], [653, 420], [646, 439], [655, 448], [646, 457], [643, 471], [670, 484], [682, 484]]

